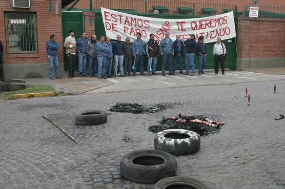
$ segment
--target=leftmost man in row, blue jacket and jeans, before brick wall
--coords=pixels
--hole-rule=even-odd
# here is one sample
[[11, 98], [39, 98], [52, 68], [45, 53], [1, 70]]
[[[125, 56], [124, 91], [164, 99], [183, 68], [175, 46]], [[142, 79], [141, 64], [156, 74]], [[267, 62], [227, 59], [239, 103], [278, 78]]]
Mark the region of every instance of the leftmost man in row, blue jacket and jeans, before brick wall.
[[58, 68], [58, 59], [57, 59], [57, 50], [59, 49], [59, 45], [55, 41], [55, 35], [51, 34], [50, 40], [47, 41], [47, 54], [49, 59], [49, 77], [50, 79], [54, 79], [52, 76], [53, 65], [55, 68], [55, 76], [57, 79], [60, 79], [59, 68]]

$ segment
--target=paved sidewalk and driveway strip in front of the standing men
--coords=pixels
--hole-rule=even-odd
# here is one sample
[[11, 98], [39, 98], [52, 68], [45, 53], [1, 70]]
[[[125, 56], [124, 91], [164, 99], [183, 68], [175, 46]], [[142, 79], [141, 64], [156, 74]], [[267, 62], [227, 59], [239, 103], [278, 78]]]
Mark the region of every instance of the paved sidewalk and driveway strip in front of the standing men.
[[157, 76], [137, 75], [136, 77], [128, 76], [108, 79], [98, 79], [95, 77], [75, 77], [72, 79], [63, 78], [54, 80], [49, 78], [33, 78], [25, 79], [25, 81], [30, 85], [51, 85], [56, 89], [57, 93], [94, 94], [225, 83], [228, 85], [240, 82], [285, 79], [285, 67], [255, 69], [251, 70], [251, 72], [226, 70], [225, 75], [221, 75], [220, 73], [215, 75], [213, 69], [206, 69], [205, 74], [195, 74], [195, 76], [191, 77], [181, 74], [161, 76], [161, 72], [157, 73], [159, 74]]

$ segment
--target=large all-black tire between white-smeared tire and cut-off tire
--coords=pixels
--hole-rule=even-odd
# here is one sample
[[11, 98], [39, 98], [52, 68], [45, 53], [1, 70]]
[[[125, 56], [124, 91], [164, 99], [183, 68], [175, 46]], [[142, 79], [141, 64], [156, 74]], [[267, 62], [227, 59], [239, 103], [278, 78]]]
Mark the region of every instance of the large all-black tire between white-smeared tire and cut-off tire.
[[128, 180], [155, 183], [175, 176], [177, 162], [169, 153], [157, 150], [139, 150], [126, 154], [120, 161], [120, 173]]

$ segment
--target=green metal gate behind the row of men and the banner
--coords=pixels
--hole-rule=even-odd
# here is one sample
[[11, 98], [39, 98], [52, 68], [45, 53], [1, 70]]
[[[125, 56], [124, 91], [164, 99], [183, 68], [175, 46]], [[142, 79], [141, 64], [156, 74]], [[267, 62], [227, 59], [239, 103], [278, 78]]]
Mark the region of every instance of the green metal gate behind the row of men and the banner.
[[[76, 11], [73, 11], [73, 10], [76, 10]], [[82, 15], [82, 11], [89, 11], [89, 9], [72, 9], [72, 11], [65, 11], [65, 10], [63, 11], [63, 14], [62, 14], [63, 40], [68, 36], [68, 31], [70, 29], [74, 29], [76, 39], [81, 36], [81, 33], [83, 32], [85, 28], [84, 17]], [[184, 19], [184, 18], [197, 18], [197, 17], [207, 16], [207, 15], [191, 15], [191, 14], [146, 14], [146, 13], [134, 13], [134, 14], [139, 15], [139, 16], [148, 16], [148, 17], [165, 18], [165, 19]], [[234, 10], [234, 16], [235, 16], [235, 27], [236, 27], [236, 33], [237, 33], [237, 7]], [[95, 10], [94, 27], [95, 27], [95, 32], [97, 36], [106, 35], [100, 9]], [[237, 57], [236, 38], [223, 40], [222, 43], [226, 45], [226, 49], [228, 53], [227, 60], [225, 61], [225, 68], [235, 70], [236, 69], [236, 57]], [[214, 68], [214, 57], [213, 57], [214, 44], [215, 43], [206, 44], [206, 48], [208, 52], [206, 69]], [[186, 47], [185, 47], [185, 52], [186, 52]], [[65, 54], [65, 48], [64, 48], [64, 54]], [[198, 68], [198, 61], [197, 61], [196, 55], [195, 55], [194, 61], [195, 61], [195, 68]], [[148, 58], [145, 57], [145, 60], [144, 60], [145, 70], [147, 70], [147, 62], [148, 62]], [[185, 57], [182, 59], [182, 62], [184, 62], [182, 65], [184, 66], [184, 69], [185, 69], [186, 67]], [[159, 56], [157, 59], [157, 70], [161, 70], [161, 63], [162, 63], [162, 58], [161, 56]], [[68, 70], [68, 62], [67, 62], [66, 56], [64, 56], [64, 68], [65, 70]], [[176, 65], [176, 68], [178, 68], [177, 65]], [[76, 64], [75, 69], [77, 69], [77, 64]]]

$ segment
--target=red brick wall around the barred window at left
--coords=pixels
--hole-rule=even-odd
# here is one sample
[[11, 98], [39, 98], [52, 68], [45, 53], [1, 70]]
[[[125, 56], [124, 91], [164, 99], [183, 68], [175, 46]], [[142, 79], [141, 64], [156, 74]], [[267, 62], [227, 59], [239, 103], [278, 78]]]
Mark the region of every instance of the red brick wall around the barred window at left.
[[[56, 35], [57, 43], [60, 46], [58, 51], [58, 61], [63, 62], [63, 40], [62, 40], [62, 3], [59, 3], [59, 14], [55, 14], [55, 2], [51, 0], [52, 10], [48, 10], [49, 0], [32, 0], [31, 8], [12, 8], [10, 1], [0, 1], [0, 40], [4, 46], [3, 61], [5, 64], [31, 64], [31, 63], [47, 63], [46, 54], [46, 41], [50, 39], [51, 34]], [[6, 51], [6, 35], [5, 35], [5, 22], [4, 12], [36, 12], [37, 19], [37, 40], [38, 40], [38, 53], [37, 54], [17, 54], [8, 55]], [[12, 56], [12, 58], [10, 57]]]

